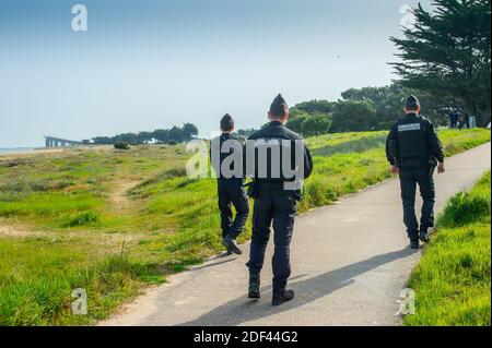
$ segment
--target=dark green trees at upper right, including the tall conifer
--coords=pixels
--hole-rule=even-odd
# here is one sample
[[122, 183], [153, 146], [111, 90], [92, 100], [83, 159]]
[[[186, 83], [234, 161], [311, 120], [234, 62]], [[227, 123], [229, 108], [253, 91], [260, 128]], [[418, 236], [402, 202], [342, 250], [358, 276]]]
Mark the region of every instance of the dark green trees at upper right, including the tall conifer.
[[338, 101], [311, 100], [291, 110], [288, 127], [305, 136], [386, 130], [414, 94], [423, 115], [448, 124], [450, 108], [491, 121], [491, 0], [434, 0], [433, 12], [414, 10], [415, 25], [391, 37], [400, 77], [383, 87], [351, 88]]

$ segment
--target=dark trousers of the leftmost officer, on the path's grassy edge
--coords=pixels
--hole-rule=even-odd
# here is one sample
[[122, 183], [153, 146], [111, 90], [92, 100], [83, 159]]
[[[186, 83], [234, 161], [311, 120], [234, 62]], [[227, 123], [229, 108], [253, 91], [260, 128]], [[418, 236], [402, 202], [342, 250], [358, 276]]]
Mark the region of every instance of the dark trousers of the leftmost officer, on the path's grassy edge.
[[[237, 180], [219, 180], [218, 191], [222, 238], [231, 236], [233, 239], [236, 239], [243, 231], [249, 215], [249, 201], [243, 188], [243, 182]], [[232, 206], [236, 211], [234, 221]]]

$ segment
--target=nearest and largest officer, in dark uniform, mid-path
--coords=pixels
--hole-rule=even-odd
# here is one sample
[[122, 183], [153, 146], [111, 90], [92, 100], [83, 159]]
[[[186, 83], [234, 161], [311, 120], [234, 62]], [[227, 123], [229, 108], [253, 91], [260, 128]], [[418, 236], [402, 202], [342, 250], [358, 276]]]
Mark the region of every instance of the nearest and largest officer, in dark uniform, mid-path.
[[[273, 298], [272, 304], [280, 305], [294, 298], [294, 291], [286, 289], [288, 279], [291, 275], [290, 244], [294, 229], [296, 203], [301, 200], [300, 187], [294, 183], [296, 179], [288, 178], [281, 163], [289, 157], [291, 169], [296, 170], [297, 180], [302, 181], [309, 177], [313, 171], [313, 160], [309, 151], [304, 145], [301, 135], [292, 132], [285, 127], [289, 119], [289, 106], [281, 95], [271, 104], [268, 113], [270, 123], [262, 130], [249, 136], [247, 147], [251, 144], [277, 144], [286, 143], [291, 146], [282, 147], [279, 152], [280, 158], [271, 153], [268, 156], [259, 156], [258, 147], [255, 147], [255, 176], [251, 196], [255, 199], [253, 213], [253, 237], [249, 262], [249, 298], [260, 298], [260, 272], [263, 266], [265, 251], [270, 238], [270, 227], [273, 226], [274, 254], [273, 268]], [[297, 146], [296, 146], [297, 145]], [[301, 157], [300, 157], [301, 156]], [[302, 158], [303, 165], [298, 165], [297, 158]], [[248, 158], [249, 160], [249, 158]], [[265, 161], [265, 163], [261, 163]], [[261, 176], [259, 168], [266, 167], [266, 176]], [[280, 176], [274, 176], [279, 171]], [[248, 172], [249, 175], [249, 172]]]

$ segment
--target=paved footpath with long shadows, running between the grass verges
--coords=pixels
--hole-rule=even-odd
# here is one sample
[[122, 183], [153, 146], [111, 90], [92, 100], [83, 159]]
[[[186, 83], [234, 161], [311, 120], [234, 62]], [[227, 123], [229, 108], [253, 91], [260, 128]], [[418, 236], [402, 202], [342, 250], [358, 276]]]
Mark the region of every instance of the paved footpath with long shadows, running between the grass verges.
[[[437, 209], [490, 169], [491, 145], [446, 161], [436, 176]], [[420, 201], [418, 201], [420, 205]], [[272, 240], [271, 240], [272, 242]], [[397, 180], [304, 214], [292, 244], [292, 302], [272, 308], [271, 267], [262, 299], [246, 298], [248, 248], [218, 256], [149, 290], [102, 325], [398, 325], [397, 300], [421, 252], [408, 248]], [[270, 260], [269, 248], [266, 260]], [[418, 296], [418, 295], [417, 295]]]

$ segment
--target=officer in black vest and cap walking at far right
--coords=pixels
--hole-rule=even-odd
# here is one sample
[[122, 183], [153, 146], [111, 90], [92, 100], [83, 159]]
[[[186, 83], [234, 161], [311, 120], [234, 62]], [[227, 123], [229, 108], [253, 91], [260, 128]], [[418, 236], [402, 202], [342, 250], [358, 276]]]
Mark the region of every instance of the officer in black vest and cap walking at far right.
[[[444, 153], [434, 124], [420, 116], [420, 103], [415, 96], [407, 98], [407, 116], [391, 127], [386, 142], [386, 155], [394, 173], [399, 173], [403, 221], [410, 238], [410, 247], [419, 249], [419, 239], [429, 241], [429, 228], [434, 227], [435, 187], [434, 171], [443, 173]], [[438, 163], [438, 165], [437, 165]], [[420, 188], [423, 199], [422, 218], [415, 216], [415, 190]]]

